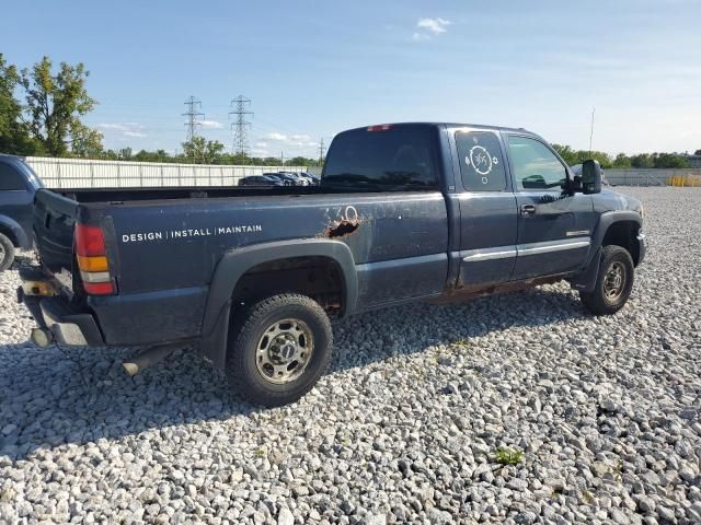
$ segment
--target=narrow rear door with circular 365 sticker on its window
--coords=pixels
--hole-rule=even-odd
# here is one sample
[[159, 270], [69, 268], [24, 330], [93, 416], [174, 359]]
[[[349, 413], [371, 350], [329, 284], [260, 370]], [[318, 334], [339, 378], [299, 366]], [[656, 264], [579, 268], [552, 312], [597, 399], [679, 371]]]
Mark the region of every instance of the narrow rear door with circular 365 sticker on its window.
[[506, 282], [516, 260], [518, 215], [506, 176], [502, 140], [495, 130], [459, 129], [451, 137], [458, 152], [460, 203], [459, 289]]

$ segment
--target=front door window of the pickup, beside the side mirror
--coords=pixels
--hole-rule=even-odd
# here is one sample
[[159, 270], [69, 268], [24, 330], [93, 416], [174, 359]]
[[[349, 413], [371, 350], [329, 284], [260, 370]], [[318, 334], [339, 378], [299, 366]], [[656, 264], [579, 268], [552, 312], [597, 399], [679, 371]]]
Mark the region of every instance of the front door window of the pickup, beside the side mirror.
[[562, 162], [538, 140], [509, 135], [508, 152], [517, 190], [560, 189], [567, 178]]

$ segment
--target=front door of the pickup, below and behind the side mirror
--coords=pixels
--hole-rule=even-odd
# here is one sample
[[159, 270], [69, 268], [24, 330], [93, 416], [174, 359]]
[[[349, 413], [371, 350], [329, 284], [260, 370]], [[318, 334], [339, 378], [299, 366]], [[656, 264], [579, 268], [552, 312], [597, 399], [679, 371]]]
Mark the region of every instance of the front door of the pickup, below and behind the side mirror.
[[591, 241], [591, 197], [563, 191], [567, 168], [544, 142], [504, 135], [518, 206], [518, 255], [512, 279], [581, 268]]

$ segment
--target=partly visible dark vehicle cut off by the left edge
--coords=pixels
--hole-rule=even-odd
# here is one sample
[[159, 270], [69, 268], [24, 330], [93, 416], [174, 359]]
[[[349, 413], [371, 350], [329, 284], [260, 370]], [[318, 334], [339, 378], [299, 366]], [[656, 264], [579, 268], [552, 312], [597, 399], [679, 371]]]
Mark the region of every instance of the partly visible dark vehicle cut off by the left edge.
[[32, 202], [41, 187], [22, 159], [0, 155], [0, 271], [12, 266], [15, 248], [32, 247]]

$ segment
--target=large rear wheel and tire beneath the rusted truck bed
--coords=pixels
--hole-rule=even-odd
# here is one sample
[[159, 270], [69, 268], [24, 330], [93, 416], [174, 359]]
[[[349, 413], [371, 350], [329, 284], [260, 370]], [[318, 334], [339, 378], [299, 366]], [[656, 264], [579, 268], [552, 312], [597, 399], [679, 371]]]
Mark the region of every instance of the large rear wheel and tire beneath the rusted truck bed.
[[295, 293], [274, 295], [232, 322], [227, 378], [254, 405], [287, 405], [317, 384], [329, 368], [332, 347], [331, 322], [315, 301]]

